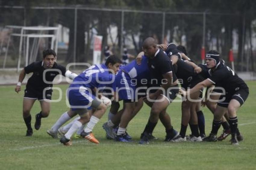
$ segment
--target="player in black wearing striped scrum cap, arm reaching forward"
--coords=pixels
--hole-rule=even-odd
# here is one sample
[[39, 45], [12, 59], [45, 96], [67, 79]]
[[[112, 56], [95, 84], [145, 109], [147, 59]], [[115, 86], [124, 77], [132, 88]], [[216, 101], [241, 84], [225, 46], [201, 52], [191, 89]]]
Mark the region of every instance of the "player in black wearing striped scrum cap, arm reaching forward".
[[238, 120], [236, 112], [239, 107], [245, 102], [249, 95], [249, 88], [246, 83], [237, 76], [237, 74], [228, 66], [220, 62], [220, 54], [211, 50], [206, 53], [206, 64], [211, 70], [209, 73], [211, 77], [198, 83], [195, 87], [187, 92], [181, 92], [184, 95], [196, 93], [203, 87], [216, 85], [225, 90], [225, 95], [220, 97], [217, 108], [214, 111], [214, 120], [212, 123], [212, 130], [204, 141], [217, 141], [217, 132], [221, 125], [221, 120], [226, 111], [229, 115], [229, 126], [231, 130], [231, 144], [237, 145], [237, 125]]

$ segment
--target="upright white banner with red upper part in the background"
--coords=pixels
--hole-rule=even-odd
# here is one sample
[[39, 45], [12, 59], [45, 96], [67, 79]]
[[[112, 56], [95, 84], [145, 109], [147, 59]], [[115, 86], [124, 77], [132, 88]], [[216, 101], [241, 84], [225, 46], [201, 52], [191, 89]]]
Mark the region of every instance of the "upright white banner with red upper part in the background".
[[92, 64], [101, 64], [101, 44], [102, 36], [95, 35], [93, 43], [93, 61]]

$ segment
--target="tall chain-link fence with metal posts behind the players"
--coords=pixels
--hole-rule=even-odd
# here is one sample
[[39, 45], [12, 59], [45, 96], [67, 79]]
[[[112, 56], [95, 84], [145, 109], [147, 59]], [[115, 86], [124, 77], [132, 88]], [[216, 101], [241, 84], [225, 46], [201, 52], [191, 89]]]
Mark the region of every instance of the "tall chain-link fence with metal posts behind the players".
[[[136, 55], [141, 51], [143, 40], [154, 37], [159, 44], [174, 42], [186, 47], [188, 56], [197, 63], [201, 62], [202, 47], [218, 50], [229, 63], [229, 50], [234, 53], [236, 71], [254, 71], [255, 33], [247, 34], [237, 29], [238, 14], [213, 14], [205, 12], [139, 11], [127, 9], [70, 7], [2, 7], [0, 14], [0, 68], [17, 68], [19, 59], [19, 29], [11, 26], [58, 27], [55, 30], [27, 31], [24, 34], [56, 35], [58, 62], [92, 63], [93, 36], [102, 36], [103, 60], [104, 47], [121, 56], [123, 48]], [[233, 23], [233, 24], [230, 24]], [[242, 31], [242, 32], [241, 32]], [[242, 50], [239, 39], [243, 39]], [[26, 50], [33, 59], [42, 58], [42, 50], [52, 47], [50, 37], [23, 39], [20, 68], [26, 65]], [[35, 44], [36, 43], [36, 44]], [[241, 45], [240, 45], [241, 46]], [[36, 48], [37, 47], [37, 48]], [[36, 56], [35, 56], [36, 55]], [[32, 62], [33, 60], [29, 60]], [[5, 63], [5, 64], [4, 64]]]

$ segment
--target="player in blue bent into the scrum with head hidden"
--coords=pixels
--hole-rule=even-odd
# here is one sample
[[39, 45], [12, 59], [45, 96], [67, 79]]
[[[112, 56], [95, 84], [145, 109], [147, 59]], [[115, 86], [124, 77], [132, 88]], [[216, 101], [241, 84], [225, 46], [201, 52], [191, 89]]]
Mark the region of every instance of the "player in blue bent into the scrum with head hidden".
[[[149, 73], [148, 59], [143, 56], [141, 65], [138, 65], [133, 60], [128, 65], [122, 67], [115, 77], [112, 88], [116, 93], [116, 98], [123, 100], [124, 109], [120, 113], [122, 115], [116, 136], [113, 134], [113, 127], [119, 122], [117, 119], [119, 114], [116, 114], [113, 119], [104, 123], [103, 128], [106, 130], [107, 135], [111, 138], [115, 137], [116, 141], [131, 141], [131, 137], [126, 132], [126, 127], [143, 105], [142, 96], [138, 96], [138, 93], [141, 93], [141, 90], [145, 91], [146, 87], [143, 88], [143, 84], [147, 84], [150, 80], [151, 75]], [[114, 120], [117, 120], [117, 122]]]

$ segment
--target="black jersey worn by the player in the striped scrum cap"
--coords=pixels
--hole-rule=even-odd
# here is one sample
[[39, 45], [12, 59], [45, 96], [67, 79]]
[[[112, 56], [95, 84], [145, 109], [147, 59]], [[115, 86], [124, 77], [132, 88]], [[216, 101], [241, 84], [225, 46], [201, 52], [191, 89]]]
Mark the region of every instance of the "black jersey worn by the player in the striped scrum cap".
[[210, 80], [218, 87], [223, 87], [226, 92], [233, 92], [239, 89], [248, 89], [248, 86], [238, 75], [228, 66], [219, 62], [216, 70], [209, 69]]

